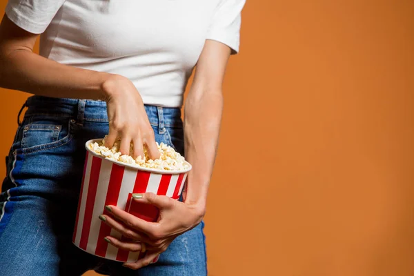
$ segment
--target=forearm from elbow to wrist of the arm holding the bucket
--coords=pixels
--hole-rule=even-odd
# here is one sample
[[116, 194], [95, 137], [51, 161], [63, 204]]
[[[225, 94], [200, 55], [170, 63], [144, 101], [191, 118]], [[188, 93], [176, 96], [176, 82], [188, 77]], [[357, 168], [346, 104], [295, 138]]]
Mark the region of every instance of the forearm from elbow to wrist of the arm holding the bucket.
[[184, 109], [186, 159], [193, 166], [187, 177], [186, 203], [196, 204], [201, 210], [206, 206], [213, 173], [222, 109], [221, 90], [190, 92]]

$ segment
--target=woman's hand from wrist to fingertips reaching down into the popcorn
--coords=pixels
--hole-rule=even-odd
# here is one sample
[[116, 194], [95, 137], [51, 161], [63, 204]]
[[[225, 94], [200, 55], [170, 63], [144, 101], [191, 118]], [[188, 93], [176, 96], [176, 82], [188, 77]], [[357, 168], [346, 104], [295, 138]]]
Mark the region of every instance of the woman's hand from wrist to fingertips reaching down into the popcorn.
[[109, 119], [109, 134], [105, 139], [105, 146], [112, 148], [116, 139], [121, 137], [119, 151], [123, 155], [129, 155], [132, 141], [134, 144], [132, 157], [144, 157], [143, 144], [145, 144], [150, 158], [159, 158], [154, 130], [148, 120], [144, 102], [134, 84], [126, 77], [108, 75], [102, 84], [102, 90]]

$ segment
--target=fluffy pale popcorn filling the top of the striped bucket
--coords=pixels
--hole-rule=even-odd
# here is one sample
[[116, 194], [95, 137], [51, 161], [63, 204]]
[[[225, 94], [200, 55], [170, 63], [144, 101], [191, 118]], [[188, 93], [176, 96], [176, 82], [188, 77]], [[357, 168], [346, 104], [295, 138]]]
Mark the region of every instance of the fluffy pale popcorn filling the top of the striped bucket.
[[190, 165], [186, 162], [184, 157], [179, 154], [179, 152], [176, 152], [174, 148], [164, 143], [157, 143], [160, 154], [159, 159], [150, 159], [148, 156], [148, 150], [145, 146], [144, 157], [139, 156], [134, 159], [132, 158], [132, 152], [134, 152], [134, 144], [130, 144], [129, 155], [122, 155], [121, 152], [119, 152], [121, 139], [117, 139], [112, 148], [106, 148], [106, 146], [103, 146], [105, 144], [105, 138], [102, 139], [102, 141], [99, 143], [95, 142], [89, 144], [90, 150], [108, 159], [123, 162], [126, 164], [137, 165], [142, 168], [155, 168], [157, 170], [187, 170], [190, 168]]

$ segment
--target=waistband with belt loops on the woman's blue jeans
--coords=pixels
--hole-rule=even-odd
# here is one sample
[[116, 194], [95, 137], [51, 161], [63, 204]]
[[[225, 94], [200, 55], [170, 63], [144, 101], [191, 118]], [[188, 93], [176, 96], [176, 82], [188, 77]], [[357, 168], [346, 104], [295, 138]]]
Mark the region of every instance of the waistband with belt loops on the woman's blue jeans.
[[[68, 117], [75, 119], [78, 124], [83, 124], [83, 121], [108, 122], [105, 101], [32, 96], [27, 99], [24, 106], [28, 107], [25, 117]], [[148, 105], [144, 107], [150, 124], [159, 128], [182, 127], [180, 108]], [[126, 110], [126, 112], [129, 112], [129, 110]]]

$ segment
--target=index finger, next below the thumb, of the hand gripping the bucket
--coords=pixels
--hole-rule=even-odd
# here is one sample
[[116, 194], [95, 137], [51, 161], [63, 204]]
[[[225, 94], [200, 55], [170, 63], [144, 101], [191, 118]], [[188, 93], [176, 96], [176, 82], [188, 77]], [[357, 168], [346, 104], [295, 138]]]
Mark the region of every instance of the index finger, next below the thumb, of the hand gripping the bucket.
[[[110, 208], [110, 210], [108, 207]], [[139, 217], [135, 217], [135, 215], [126, 213], [124, 210], [121, 210], [115, 206], [108, 207], [106, 207], [106, 210], [108, 210], [116, 219], [122, 221], [126, 225], [126, 229], [131, 228], [133, 230], [137, 230], [138, 232], [144, 232], [150, 237], [157, 236], [159, 232], [159, 225], [156, 222], [145, 221], [144, 219], [140, 219]], [[131, 231], [130, 229], [128, 230]], [[135, 231], [132, 232], [135, 233]]]

